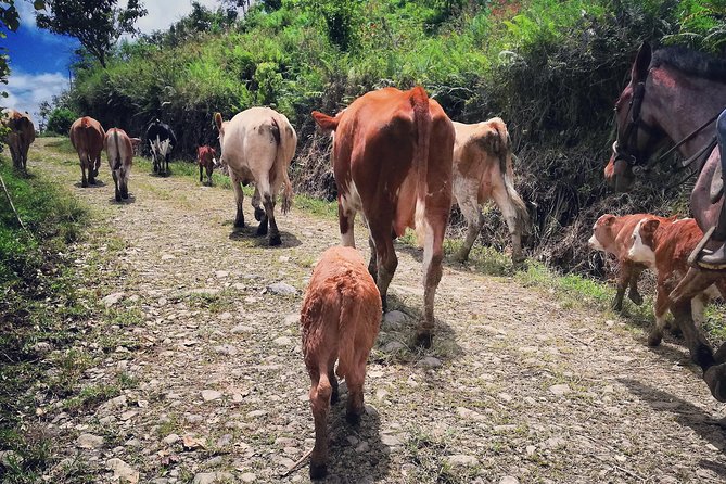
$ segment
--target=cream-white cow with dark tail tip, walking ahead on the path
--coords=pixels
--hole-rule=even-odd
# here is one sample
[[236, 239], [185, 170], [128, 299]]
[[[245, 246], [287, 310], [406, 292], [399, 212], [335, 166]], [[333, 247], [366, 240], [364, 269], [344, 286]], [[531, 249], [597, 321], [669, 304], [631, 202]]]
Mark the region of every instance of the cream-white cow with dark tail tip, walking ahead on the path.
[[229, 168], [237, 199], [234, 227], [244, 227], [241, 184], [254, 182], [252, 206], [259, 221], [257, 234], [267, 234], [269, 224], [269, 244], [280, 245], [275, 203], [281, 191], [282, 213], [288, 213], [292, 205], [288, 168], [297, 147], [295, 130], [283, 114], [269, 107], [251, 107], [228, 122], [222, 122], [221, 114], [215, 113], [214, 120], [219, 129], [220, 158]]

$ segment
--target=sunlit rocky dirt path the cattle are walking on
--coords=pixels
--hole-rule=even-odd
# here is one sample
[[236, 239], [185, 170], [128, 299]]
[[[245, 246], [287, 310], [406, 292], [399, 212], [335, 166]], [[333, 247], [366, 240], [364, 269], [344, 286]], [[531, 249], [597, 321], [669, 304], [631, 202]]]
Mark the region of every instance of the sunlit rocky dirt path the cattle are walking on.
[[[269, 249], [252, 229], [232, 233], [229, 190], [135, 168], [132, 203], [116, 204], [105, 164], [107, 184], [81, 189], [73, 155], [48, 144], [31, 169], [73, 187], [120, 241], [91, 281], [115, 340], [82, 348], [82, 385], [132, 382], [87, 411], [49, 410], [62, 449], [49, 482], [69, 466], [90, 482], [308, 482], [307, 462], [281, 476], [314, 437], [297, 313], [335, 221], [293, 208], [279, 218], [283, 246]], [[79, 265], [111, 250], [93, 244]], [[612, 316], [447, 263], [434, 348], [421, 353], [409, 346], [420, 255], [397, 252], [368, 412], [351, 428], [333, 408], [328, 482], [726, 481], [724, 406], [680, 346], [649, 349]]]

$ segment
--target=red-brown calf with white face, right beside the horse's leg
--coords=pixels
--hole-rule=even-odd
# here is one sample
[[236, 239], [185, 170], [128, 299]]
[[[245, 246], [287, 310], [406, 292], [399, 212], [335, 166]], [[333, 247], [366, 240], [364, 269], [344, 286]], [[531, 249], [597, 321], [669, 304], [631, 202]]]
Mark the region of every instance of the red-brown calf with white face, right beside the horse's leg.
[[[651, 346], [658, 346], [663, 339], [665, 313], [671, 309], [668, 294], [688, 272], [688, 256], [702, 237], [703, 232], [692, 218], [674, 220], [648, 216], [633, 230], [629, 258], [647, 265], [658, 275], [653, 308], [655, 327], [648, 336], [648, 344]], [[704, 306], [711, 298], [718, 297], [719, 293], [724, 294], [725, 282], [724, 279], [716, 281], [691, 300], [691, 311], [697, 327], [704, 320]]]

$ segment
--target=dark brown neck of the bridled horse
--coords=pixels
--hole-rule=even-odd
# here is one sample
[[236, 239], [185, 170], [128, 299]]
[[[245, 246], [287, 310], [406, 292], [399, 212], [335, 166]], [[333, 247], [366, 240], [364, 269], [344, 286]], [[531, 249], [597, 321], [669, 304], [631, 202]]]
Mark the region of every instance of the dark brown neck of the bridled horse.
[[[654, 69], [649, 88], [658, 93], [658, 124], [674, 143], [726, 109], [726, 84], [688, 77], [672, 69]], [[696, 154], [713, 138], [715, 123], [679, 149], [684, 157]]]

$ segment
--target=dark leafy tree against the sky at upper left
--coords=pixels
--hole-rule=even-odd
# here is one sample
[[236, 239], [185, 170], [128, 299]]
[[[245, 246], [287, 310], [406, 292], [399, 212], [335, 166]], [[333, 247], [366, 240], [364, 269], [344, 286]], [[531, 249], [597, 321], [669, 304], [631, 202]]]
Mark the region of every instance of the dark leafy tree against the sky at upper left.
[[128, 0], [125, 9], [118, 0], [47, 0], [38, 13], [38, 27], [77, 38], [81, 46], [105, 68], [106, 56], [124, 34], [136, 35], [136, 21], [147, 14], [139, 0]]

